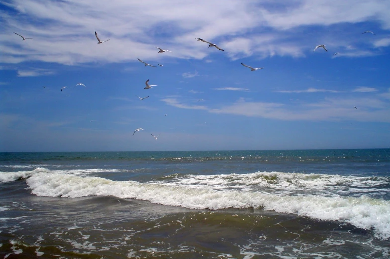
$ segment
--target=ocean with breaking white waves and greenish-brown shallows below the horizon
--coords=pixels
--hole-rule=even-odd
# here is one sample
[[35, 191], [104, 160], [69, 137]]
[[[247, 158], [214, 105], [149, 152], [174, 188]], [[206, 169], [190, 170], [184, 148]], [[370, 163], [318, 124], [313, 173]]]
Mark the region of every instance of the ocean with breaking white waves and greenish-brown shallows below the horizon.
[[390, 257], [390, 149], [0, 153], [0, 257]]

